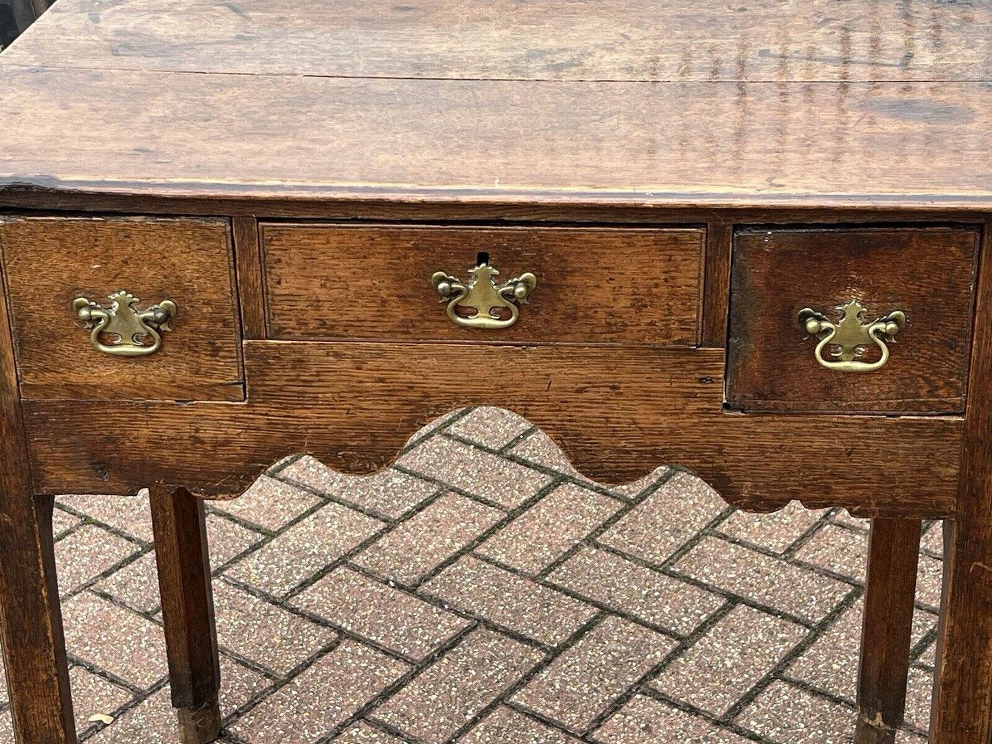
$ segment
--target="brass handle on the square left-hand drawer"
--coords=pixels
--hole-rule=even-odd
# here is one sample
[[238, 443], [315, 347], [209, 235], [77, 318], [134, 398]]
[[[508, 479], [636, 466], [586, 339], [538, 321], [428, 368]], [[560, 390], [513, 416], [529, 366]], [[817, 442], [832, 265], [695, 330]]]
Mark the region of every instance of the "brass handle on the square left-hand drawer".
[[[176, 303], [163, 300], [147, 310], [135, 306], [141, 301], [126, 290], [109, 296], [109, 310], [84, 297], [72, 301], [72, 309], [89, 331], [89, 340], [100, 351], [116, 356], [144, 356], [159, 350], [160, 330], [172, 330], [169, 323], [176, 317]], [[103, 343], [101, 334], [117, 336], [113, 343]], [[147, 343], [151, 338], [152, 343]]]

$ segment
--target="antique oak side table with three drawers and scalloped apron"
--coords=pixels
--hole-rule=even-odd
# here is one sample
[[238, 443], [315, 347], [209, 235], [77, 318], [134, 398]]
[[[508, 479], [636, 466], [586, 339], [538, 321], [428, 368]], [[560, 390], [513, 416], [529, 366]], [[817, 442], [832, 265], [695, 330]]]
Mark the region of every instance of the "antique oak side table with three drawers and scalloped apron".
[[54, 494], [151, 487], [205, 742], [194, 496], [293, 452], [377, 470], [466, 404], [601, 480], [873, 518], [859, 744], [900, 723], [945, 520], [931, 741], [987, 744], [988, 0], [60, 0], [0, 57], [0, 132], [22, 744], [74, 741]]

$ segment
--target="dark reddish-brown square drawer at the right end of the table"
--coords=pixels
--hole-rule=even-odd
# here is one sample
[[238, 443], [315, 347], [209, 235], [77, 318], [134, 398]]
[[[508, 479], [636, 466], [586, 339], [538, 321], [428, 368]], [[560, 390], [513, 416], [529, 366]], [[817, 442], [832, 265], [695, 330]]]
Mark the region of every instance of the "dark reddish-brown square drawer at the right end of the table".
[[736, 232], [728, 405], [963, 411], [979, 237], [952, 227]]

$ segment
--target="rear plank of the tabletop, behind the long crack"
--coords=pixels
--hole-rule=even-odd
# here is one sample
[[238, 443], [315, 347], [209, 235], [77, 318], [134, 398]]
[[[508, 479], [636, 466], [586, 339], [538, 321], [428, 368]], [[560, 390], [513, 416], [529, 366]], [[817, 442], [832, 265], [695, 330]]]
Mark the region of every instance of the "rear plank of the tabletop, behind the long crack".
[[[989, 79], [992, 5], [61, 0], [30, 64], [552, 80]], [[52, 40], [58, 38], [56, 48]]]

